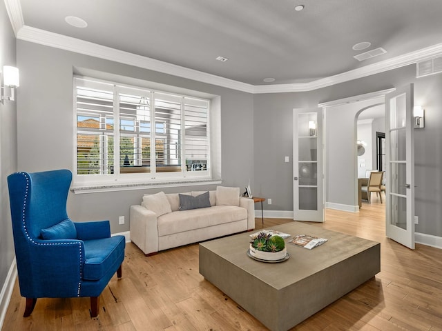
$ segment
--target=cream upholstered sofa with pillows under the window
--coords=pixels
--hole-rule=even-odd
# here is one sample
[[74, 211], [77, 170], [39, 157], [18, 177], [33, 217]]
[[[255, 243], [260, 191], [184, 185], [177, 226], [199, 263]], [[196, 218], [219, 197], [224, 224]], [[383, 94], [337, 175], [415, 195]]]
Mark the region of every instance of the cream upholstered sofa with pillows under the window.
[[[181, 205], [180, 194], [164, 192], [144, 194], [141, 205], [131, 205], [131, 241], [144, 254], [255, 228], [253, 200], [240, 197], [239, 188], [218, 186], [209, 194], [181, 194], [187, 196], [181, 197]], [[184, 204], [186, 200], [203, 197], [210, 207], [184, 210], [189, 207]]]

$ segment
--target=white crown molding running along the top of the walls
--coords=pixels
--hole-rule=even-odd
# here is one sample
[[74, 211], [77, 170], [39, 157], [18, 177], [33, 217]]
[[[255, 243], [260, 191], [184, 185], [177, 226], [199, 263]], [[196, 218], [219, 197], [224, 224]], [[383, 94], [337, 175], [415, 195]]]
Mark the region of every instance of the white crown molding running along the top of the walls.
[[372, 74], [378, 74], [388, 70], [408, 66], [419, 61], [424, 61], [432, 57], [442, 55], [442, 43], [403, 54], [392, 59], [387, 59], [378, 63], [373, 63], [362, 68], [336, 74], [334, 76], [317, 79], [309, 83], [290, 83], [290, 84], [272, 84], [272, 85], [258, 85], [253, 86], [248, 83], [242, 83], [233, 79], [216, 76], [215, 74], [208, 74], [206, 72], [184, 68], [175, 64], [167, 63], [151, 59], [149, 57], [142, 57], [141, 55], [124, 52], [115, 48], [90, 43], [81, 39], [67, 37], [62, 34], [49, 32], [37, 28], [26, 26], [23, 21], [23, 14], [21, 12], [21, 5], [19, 0], [4, 0], [6, 10], [12, 24], [17, 39], [23, 41], [30, 41], [32, 43], [39, 43], [41, 45], [59, 48], [61, 50], [68, 50], [70, 52], [77, 52], [79, 54], [89, 55], [91, 57], [98, 57], [109, 61], [128, 64], [148, 70], [162, 72], [164, 74], [171, 74], [173, 76], [191, 79], [193, 81], [200, 81], [202, 83], [209, 83], [223, 88], [238, 90], [252, 94], [263, 93], [286, 93], [286, 92], [309, 92], [326, 88], [338, 83], [352, 81]]

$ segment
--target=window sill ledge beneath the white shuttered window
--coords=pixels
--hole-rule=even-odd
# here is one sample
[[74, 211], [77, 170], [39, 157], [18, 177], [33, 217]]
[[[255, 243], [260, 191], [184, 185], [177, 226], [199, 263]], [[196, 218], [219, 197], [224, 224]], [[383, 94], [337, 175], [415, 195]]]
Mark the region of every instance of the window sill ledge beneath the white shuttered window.
[[157, 183], [120, 183], [120, 184], [95, 184], [89, 186], [73, 186], [70, 191], [74, 194], [99, 193], [99, 192], [117, 192], [130, 190], [146, 190], [151, 188], [175, 188], [177, 186], [211, 185], [220, 184], [221, 179], [200, 179], [189, 181], [169, 181]]

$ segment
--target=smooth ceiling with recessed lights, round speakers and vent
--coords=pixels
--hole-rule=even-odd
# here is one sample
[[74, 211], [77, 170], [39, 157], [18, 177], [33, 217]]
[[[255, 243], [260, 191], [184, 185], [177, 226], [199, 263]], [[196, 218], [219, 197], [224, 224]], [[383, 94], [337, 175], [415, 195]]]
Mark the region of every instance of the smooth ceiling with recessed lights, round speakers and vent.
[[[251, 86], [311, 83], [381, 63], [387, 70], [442, 52], [442, 0], [5, 2], [18, 39], [61, 34]], [[298, 4], [305, 9], [296, 12]], [[67, 16], [88, 26], [69, 26]], [[372, 46], [352, 50], [362, 41]], [[387, 53], [354, 59], [379, 47]]]

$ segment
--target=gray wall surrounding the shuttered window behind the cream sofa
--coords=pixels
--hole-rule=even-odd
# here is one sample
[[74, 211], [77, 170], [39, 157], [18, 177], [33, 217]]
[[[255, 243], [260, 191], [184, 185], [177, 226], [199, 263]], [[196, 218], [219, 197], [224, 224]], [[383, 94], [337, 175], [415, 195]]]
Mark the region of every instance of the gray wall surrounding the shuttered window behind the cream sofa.
[[[253, 96], [236, 90], [126, 66], [95, 57], [17, 41], [22, 72], [17, 102], [18, 168], [37, 172], [73, 169], [73, 67], [220, 95], [222, 185], [244, 188], [253, 178]], [[167, 188], [164, 192], [215, 189], [215, 185]], [[129, 230], [129, 208], [152, 190], [73, 194], [68, 214], [74, 221], [109, 219], [112, 232]], [[126, 223], [118, 225], [118, 217]]]

